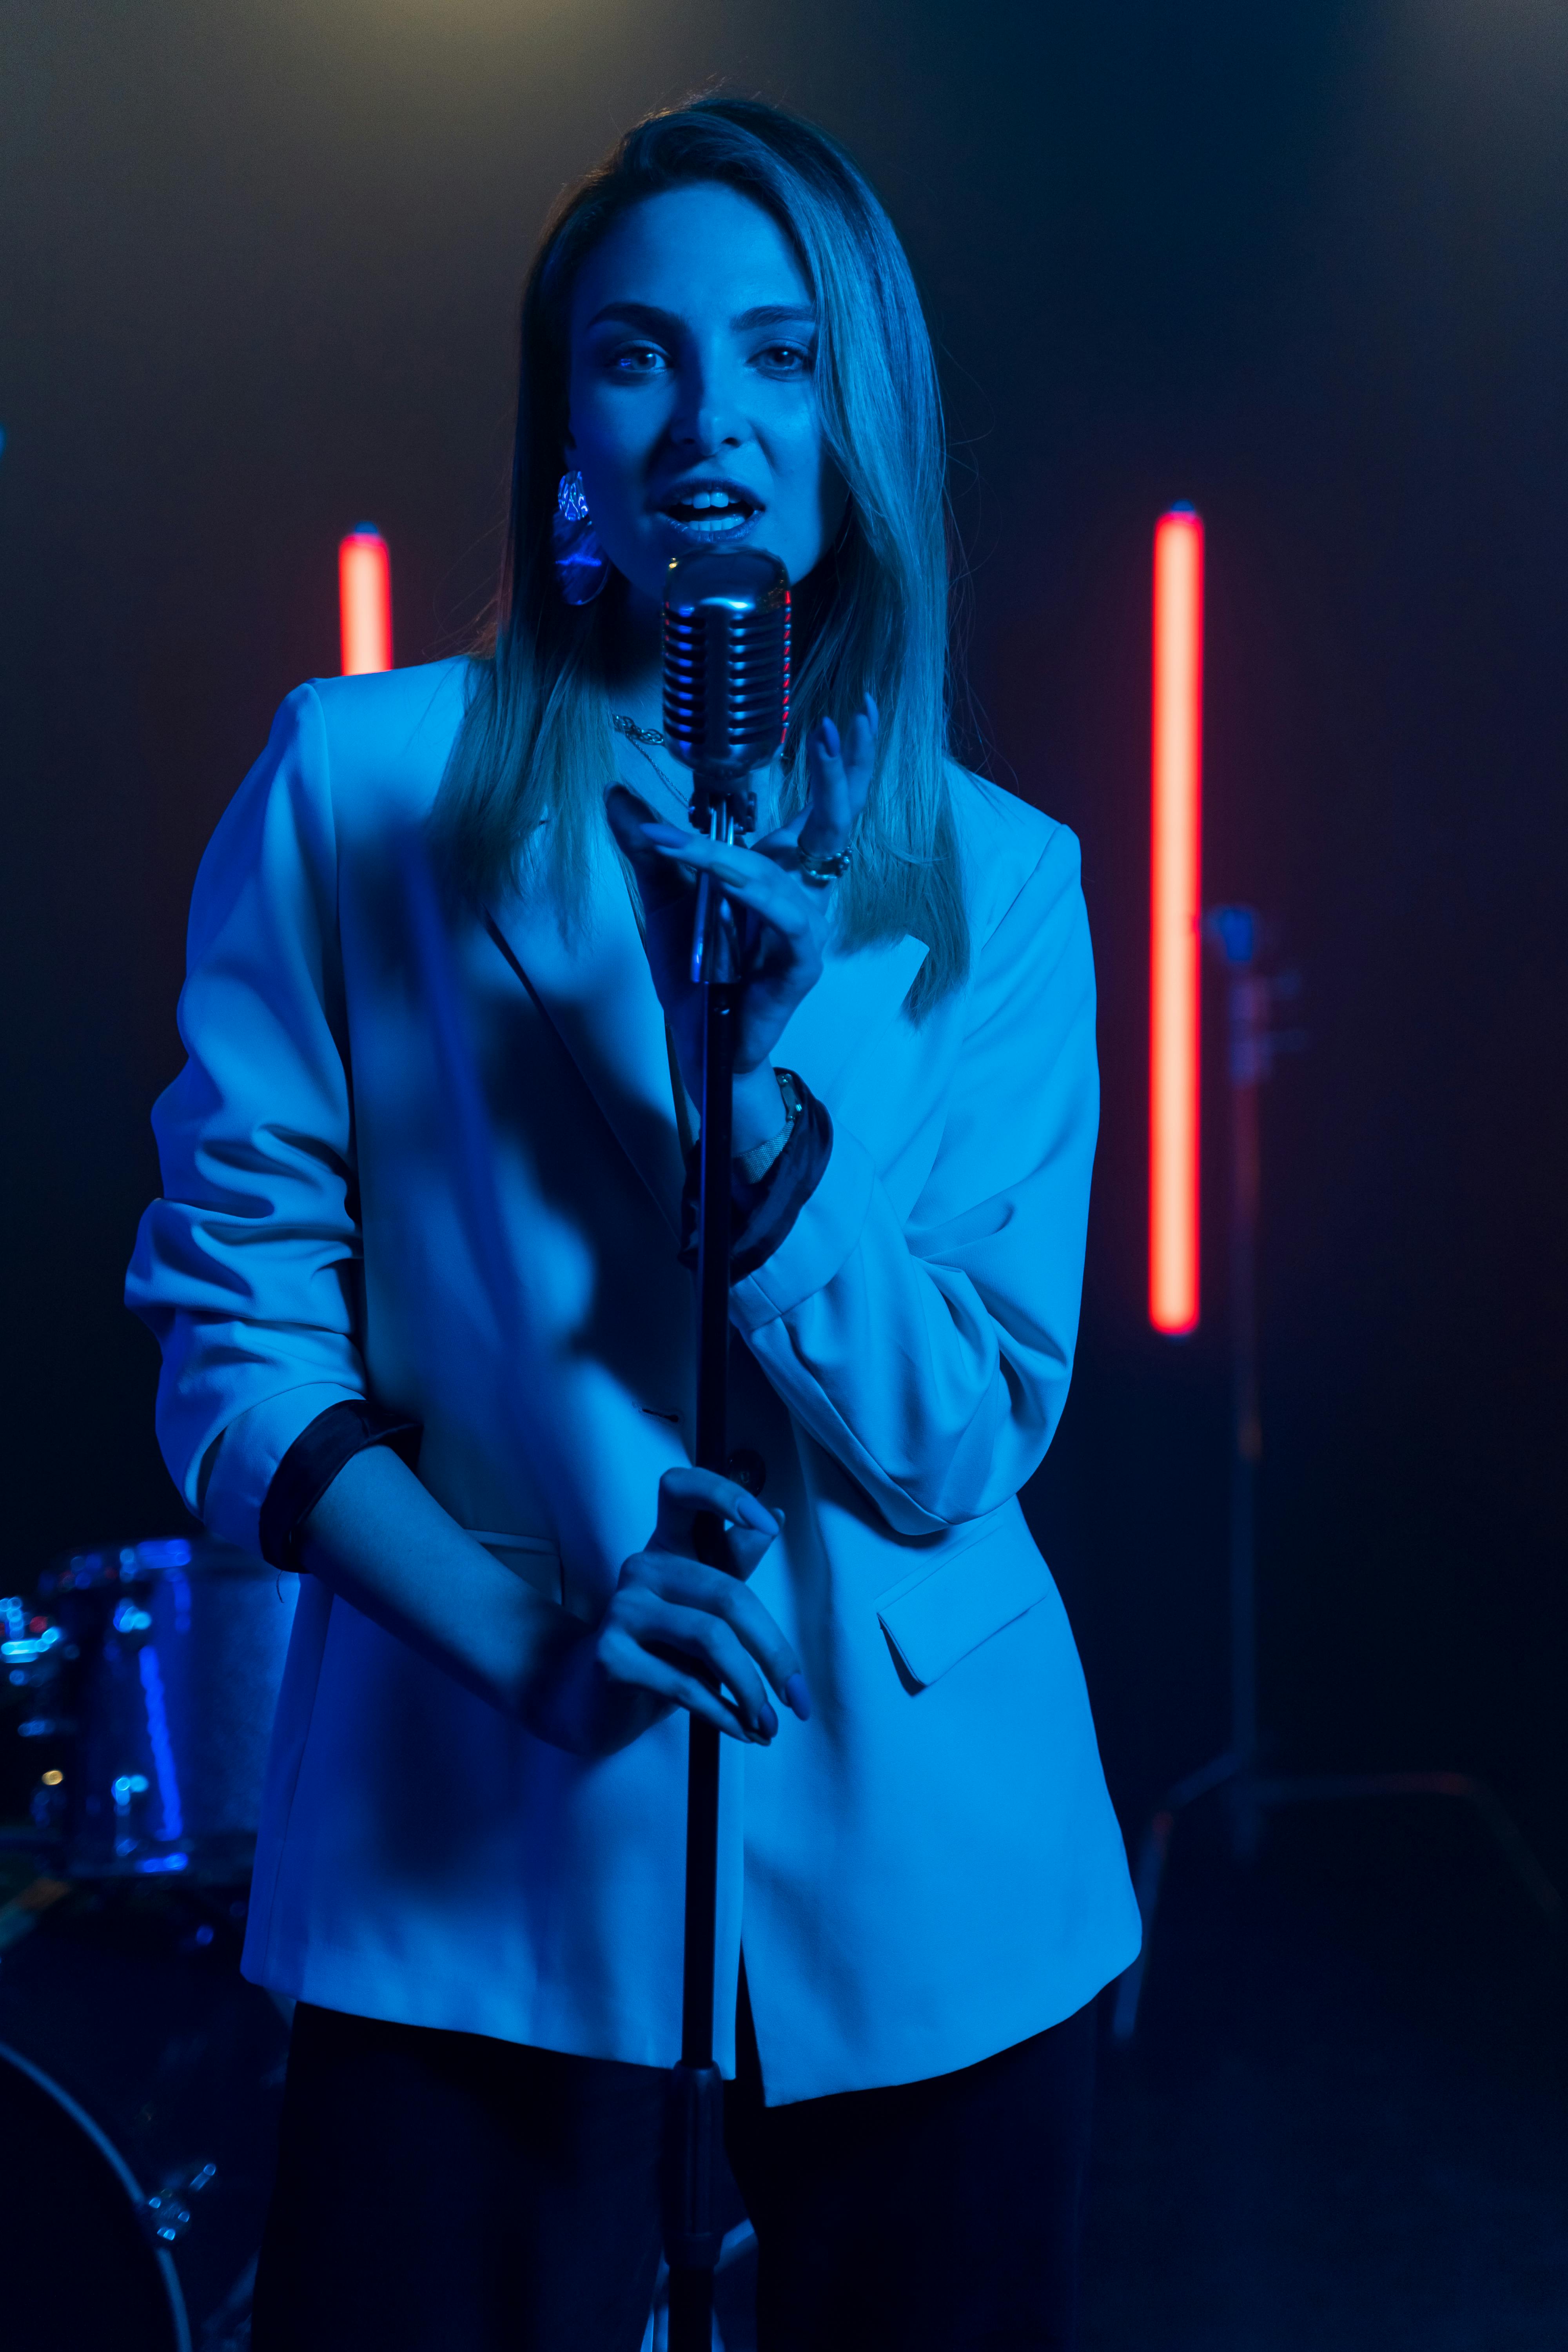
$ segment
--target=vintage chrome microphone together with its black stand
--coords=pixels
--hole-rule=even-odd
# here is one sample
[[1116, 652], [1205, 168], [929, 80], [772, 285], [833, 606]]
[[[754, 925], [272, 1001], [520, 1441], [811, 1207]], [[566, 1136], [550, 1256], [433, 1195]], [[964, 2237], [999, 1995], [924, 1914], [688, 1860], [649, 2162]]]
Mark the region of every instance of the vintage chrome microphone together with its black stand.
[[[790, 581], [757, 548], [677, 555], [665, 588], [665, 743], [691, 769], [691, 823], [733, 842], [757, 823], [752, 769], [790, 717]], [[736, 1070], [736, 929], [724, 894], [698, 877], [691, 981], [703, 988], [698, 1145], [696, 1463], [729, 1472], [729, 1134]], [[696, 1519], [696, 1555], [724, 1564], [724, 1522]], [[719, 1886], [719, 1731], [691, 1717], [686, 1757], [686, 1957], [682, 2053], [665, 2114], [663, 2220], [670, 2352], [710, 2352], [719, 2260], [724, 2082], [712, 2063]]]

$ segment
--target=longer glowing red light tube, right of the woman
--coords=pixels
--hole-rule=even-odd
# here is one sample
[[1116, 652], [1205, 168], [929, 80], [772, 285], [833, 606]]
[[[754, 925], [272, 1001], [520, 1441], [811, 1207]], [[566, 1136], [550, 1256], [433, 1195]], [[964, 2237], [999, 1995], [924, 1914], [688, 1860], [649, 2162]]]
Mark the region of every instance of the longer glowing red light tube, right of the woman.
[[1199, 1319], [1199, 955], [1204, 889], [1204, 522], [1154, 527], [1150, 811], [1150, 1322]]

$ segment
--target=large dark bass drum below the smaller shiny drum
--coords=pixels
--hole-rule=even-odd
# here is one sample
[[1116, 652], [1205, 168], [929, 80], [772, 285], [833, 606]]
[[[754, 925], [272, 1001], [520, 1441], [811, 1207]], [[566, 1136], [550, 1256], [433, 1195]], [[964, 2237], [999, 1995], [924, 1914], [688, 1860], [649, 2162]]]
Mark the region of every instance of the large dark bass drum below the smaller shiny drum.
[[[14, 1863], [9, 1865], [14, 1872]], [[244, 1898], [24, 1886], [0, 1962], [7, 2352], [242, 2352], [287, 2027], [237, 1973]]]

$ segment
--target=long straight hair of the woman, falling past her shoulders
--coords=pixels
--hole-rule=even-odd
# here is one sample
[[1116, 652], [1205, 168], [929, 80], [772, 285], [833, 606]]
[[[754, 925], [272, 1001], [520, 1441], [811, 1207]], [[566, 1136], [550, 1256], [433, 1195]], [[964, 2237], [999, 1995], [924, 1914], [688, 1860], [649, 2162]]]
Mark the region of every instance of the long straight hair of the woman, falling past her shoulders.
[[632, 205], [719, 181], [762, 205], [816, 299], [816, 393], [849, 485], [844, 527], [795, 588], [797, 670], [783, 748], [785, 814], [802, 807], [799, 748], [870, 689], [877, 769], [839, 884], [839, 943], [912, 931], [929, 948], [910, 995], [924, 1014], [969, 971], [969, 917], [947, 762], [947, 499], [931, 336], [893, 223], [823, 132], [755, 99], [708, 96], [649, 115], [569, 188], [522, 292], [517, 437], [501, 590], [475, 649], [470, 699], [433, 811], [437, 854], [468, 894], [545, 891], [583, 920], [609, 842], [611, 574], [567, 604], [550, 522], [569, 430], [569, 308], [588, 252]]

